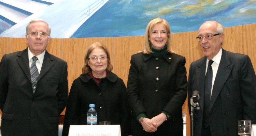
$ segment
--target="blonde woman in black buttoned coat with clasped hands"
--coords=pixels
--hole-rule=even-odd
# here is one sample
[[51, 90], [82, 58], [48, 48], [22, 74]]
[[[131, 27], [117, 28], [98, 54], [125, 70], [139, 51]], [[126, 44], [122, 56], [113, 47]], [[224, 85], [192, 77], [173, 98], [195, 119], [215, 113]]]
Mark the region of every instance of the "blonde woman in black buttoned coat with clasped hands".
[[185, 57], [171, 49], [165, 19], [151, 20], [142, 52], [131, 56], [127, 94], [135, 136], [182, 136], [182, 105], [187, 97]]

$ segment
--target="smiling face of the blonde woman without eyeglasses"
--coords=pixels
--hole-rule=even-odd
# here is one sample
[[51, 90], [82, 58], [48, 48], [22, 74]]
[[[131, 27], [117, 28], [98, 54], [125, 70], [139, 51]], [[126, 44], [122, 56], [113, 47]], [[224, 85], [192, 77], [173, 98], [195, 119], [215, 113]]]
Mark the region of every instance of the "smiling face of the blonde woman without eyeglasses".
[[151, 43], [152, 47], [155, 49], [162, 49], [168, 38], [168, 33], [165, 26], [162, 23], [158, 23], [154, 26], [152, 32], [150, 32], [150, 37], [148, 38]]

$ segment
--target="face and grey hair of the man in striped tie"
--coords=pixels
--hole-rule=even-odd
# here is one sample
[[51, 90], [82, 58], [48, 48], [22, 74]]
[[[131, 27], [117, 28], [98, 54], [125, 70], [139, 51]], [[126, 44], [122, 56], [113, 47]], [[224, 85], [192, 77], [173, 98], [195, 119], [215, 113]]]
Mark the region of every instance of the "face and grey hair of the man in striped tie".
[[[29, 24], [28, 33], [33, 31], [49, 33], [48, 25], [43, 21], [35, 21]], [[26, 35], [29, 50], [35, 55], [39, 55], [44, 52], [45, 48], [49, 44], [50, 37], [41, 37], [40, 34], [36, 37], [32, 37], [31, 34]]]

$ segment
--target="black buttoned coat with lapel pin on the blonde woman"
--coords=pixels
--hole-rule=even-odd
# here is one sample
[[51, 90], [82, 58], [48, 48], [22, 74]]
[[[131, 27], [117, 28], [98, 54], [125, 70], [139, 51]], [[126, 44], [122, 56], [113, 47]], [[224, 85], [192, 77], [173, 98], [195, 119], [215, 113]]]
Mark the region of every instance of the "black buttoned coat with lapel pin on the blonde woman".
[[133, 114], [132, 135], [148, 135], [136, 116], [144, 112], [153, 118], [162, 111], [171, 119], [163, 122], [155, 135], [182, 135], [182, 105], [187, 97], [185, 63], [185, 57], [167, 52], [159, 58], [142, 52], [131, 56], [127, 94]]

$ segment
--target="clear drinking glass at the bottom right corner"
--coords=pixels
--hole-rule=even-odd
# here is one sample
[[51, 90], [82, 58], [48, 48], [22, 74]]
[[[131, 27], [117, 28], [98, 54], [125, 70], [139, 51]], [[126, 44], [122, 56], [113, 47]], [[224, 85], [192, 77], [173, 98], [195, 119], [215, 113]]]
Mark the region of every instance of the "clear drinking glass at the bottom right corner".
[[238, 121], [238, 135], [251, 136], [251, 120], [239, 120]]

